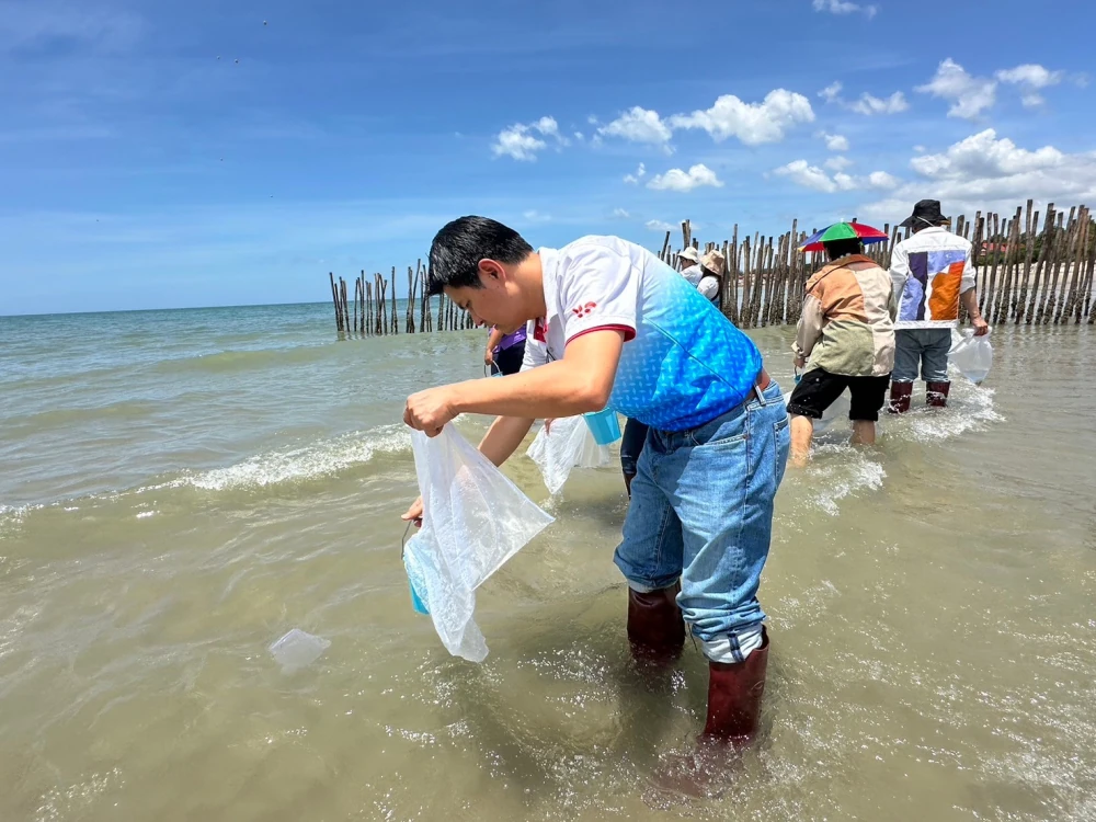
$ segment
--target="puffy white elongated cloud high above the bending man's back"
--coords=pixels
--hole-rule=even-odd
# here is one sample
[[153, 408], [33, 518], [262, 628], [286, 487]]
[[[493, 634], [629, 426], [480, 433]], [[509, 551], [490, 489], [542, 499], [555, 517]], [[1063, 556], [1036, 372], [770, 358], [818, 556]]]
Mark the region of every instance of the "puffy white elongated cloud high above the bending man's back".
[[738, 137], [747, 146], [777, 142], [798, 123], [813, 122], [810, 101], [785, 89], [770, 91], [760, 103], [744, 103], [733, 94], [723, 94], [706, 111], [670, 118], [674, 128], [703, 128], [717, 142]]

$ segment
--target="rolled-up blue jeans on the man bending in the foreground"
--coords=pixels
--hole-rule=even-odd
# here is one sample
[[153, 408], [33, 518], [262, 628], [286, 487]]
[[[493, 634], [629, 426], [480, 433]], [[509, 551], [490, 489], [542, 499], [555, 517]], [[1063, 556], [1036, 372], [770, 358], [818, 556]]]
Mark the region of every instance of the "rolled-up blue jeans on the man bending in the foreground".
[[720, 662], [741, 661], [747, 637], [760, 644], [765, 618], [757, 585], [790, 433], [780, 387], [762, 397], [696, 429], [650, 430], [615, 557], [638, 591], [680, 579], [685, 621]]

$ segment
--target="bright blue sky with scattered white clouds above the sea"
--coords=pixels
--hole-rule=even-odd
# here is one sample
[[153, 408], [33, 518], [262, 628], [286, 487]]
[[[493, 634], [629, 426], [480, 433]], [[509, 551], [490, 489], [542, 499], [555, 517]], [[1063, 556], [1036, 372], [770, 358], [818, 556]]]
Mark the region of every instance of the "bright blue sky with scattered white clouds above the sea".
[[0, 0], [0, 315], [322, 300], [468, 213], [660, 247], [1093, 205], [1096, 11], [1054, 8]]

